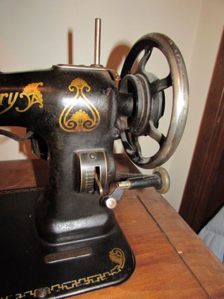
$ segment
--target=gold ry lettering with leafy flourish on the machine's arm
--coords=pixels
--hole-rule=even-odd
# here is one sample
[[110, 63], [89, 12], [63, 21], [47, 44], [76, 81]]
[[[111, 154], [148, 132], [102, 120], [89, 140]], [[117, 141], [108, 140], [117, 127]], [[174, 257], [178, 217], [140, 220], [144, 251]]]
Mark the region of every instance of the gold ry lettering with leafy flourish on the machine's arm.
[[15, 107], [15, 110], [17, 112], [25, 112], [34, 104], [39, 104], [39, 108], [43, 108], [43, 96], [37, 88], [39, 85], [42, 86], [43, 82], [30, 83], [24, 87], [23, 92], [21, 93], [19, 92], [0, 93], [0, 106], [3, 105], [4, 100], [6, 100], [8, 104], [8, 106], [5, 109], [0, 111], [0, 114], [5, 113], [15, 105], [18, 95], [20, 99], [24, 100], [22, 101], [22, 103], [25, 103], [26, 107], [24, 109]]

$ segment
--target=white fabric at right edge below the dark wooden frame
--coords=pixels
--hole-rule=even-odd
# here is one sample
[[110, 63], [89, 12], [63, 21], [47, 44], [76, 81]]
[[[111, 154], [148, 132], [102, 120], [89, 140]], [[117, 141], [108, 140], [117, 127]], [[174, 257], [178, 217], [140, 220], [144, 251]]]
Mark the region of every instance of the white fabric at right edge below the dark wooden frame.
[[199, 237], [224, 264], [224, 207], [200, 231]]

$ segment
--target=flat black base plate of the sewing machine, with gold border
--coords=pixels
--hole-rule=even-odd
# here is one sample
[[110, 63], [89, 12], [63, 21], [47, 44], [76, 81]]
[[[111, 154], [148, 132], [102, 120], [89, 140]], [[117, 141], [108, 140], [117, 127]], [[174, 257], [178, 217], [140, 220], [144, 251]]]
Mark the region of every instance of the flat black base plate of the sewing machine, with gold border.
[[127, 280], [134, 257], [118, 225], [98, 238], [40, 243], [34, 205], [42, 190], [0, 191], [0, 297], [65, 298]]

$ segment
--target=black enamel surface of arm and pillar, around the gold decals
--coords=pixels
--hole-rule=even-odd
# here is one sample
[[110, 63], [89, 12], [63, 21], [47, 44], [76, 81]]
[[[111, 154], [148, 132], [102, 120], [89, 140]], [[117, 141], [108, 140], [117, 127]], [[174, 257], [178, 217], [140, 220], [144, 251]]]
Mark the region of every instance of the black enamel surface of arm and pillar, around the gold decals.
[[[101, 121], [91, 132], [66, 132], [59, 125], [60, 114], [66, 103], [74, 98], [69, 85], [76, 79], [85, 80], [90, 86], [83, 89], [88, 100], [98, 110]], [[43, 108], [34, 104], [23, 113], [27, 102], [18, 98], [14, 107], [0, 115], [1, 126], [28, 128], [48, 146], [49, 183], [38, 199], [36, 223], [40, 237], [49, 243], [67, 242], [99, 236], [114, 227], [111, 210], [99, 204], [100, 196], [78, 193], [80, 189], [80, 165], [77, 156], [82, 151], [104, 151], [107, 159], [105, 194], [114, 179], [115, 164], [112, 154], [114, 140], [119, 137], [119, 93], [107, 70], [52, 67], [43, 71], [0, 73], [0, 93], [22, 91], [32, 82], [42, 82], [38, 90], [43, 95]], [[85, 110], [83, 101], [76, 99], [76, 110]], [[2, 106], [3, 105], [3, 106]], [[1, 111], [7, 107], [3, 99]], [[74, 113], [74, 111], [73, 111]]]

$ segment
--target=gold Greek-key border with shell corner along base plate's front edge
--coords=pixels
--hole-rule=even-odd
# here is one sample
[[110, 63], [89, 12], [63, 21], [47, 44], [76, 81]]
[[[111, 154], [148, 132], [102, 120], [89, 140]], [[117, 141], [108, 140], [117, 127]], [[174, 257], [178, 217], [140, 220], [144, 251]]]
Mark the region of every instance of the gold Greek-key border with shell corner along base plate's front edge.
[[[71, 282], [66, 282], [63, 284], [54, 285], [49, 288], [46, 287], [43, 289], [45, 289], [48, 292], [48, 295], [50, 295], [50, 294], [52, 294], [52, 292], [55, 292], [55, 291], [74, 290], [83, 285], [91, 285], [91, 284], [96, 284], [96, 283], [102, 282], [102, 281], [108, 279], [110, 276], [114, 276], [115, 274], [119, 273], [124, 267], [125, 256], [121, 249], [113, 248], [112, 251], [110, 251], [109, 257], [110, 257], [111, 261], [117, 265], [107, 272], [92, 275], [87, 278], [73, 280]], [[15, 294], [15, 298], [16, 299], [24, 299], [24, 298], [26, 298], [26, 296], [28, 298], [30, 298], [30, 296], [36, 297], [37, 292], [38, 292], [38, 289], [36, 289], [34, 291], [28, 291], [23, 294]]]

